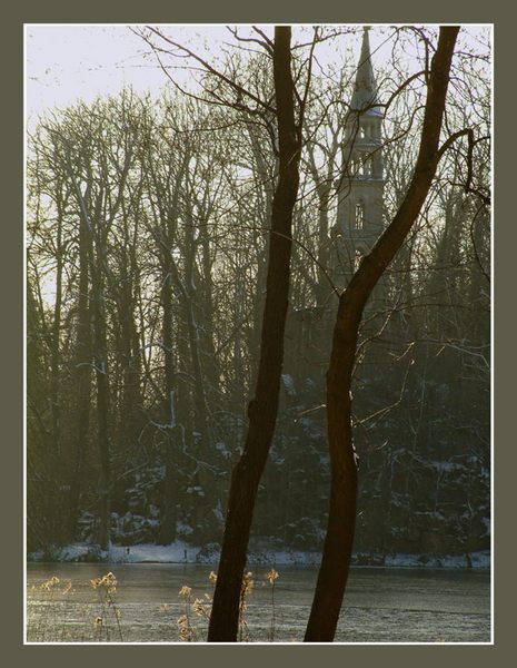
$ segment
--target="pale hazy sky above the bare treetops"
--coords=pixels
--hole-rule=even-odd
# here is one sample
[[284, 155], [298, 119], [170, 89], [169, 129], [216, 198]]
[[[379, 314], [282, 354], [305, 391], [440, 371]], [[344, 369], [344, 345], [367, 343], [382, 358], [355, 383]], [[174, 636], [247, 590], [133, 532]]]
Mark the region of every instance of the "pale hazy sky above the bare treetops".
[[[246, 27], [239, 28], [242, 32]], [[166, 26], [163, 31], [178, 41], [195, 45], [197, 52], [217, 57], [223, 40], [232, 41], [225, 26]], [[272, 26], [265, 27], [272, 33]], [[478, 29], [469, 27], [476, 35]], [[296, 35], [296, 29], [294, 30]], [[370, 32], [374, 66], [382, 61], [387, 28]], [[202, 37], [200, 37], [202, 36]], [[358, 39], [344, 37], [359, 51]], [[342, 45], [341, 45], [342, 46]], [[380, 47], [380, 48], [379, 48]], [[332, 40], [318, 47], [336, 50]], [[155, 57], [146, 57], [149, 47], [126, 24], [28, 24], [26, 26], [26, 109], [29, 124], [43, 109], [91, 101], [99, 94], [116, 94], [131, 85], [137, 91], [158, 92], [167, 84]]]

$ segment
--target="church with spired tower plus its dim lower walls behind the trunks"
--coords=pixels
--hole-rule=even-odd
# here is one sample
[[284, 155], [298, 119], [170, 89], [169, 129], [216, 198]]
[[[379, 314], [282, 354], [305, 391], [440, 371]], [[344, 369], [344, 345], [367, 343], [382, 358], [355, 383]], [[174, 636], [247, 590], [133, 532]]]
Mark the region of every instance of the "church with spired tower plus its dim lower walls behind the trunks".
[[[368, 28], [357, 66], [352, 96], [346, 115], [341, 141], [341, 168], [335, 181], [337, 219], [330, 235], [330, 276], [338, 291], [349, 283], [362, 256], [368, 254], [382, 232], [382, 110], [371, 66]], [[317, 307], [295, 311], [288, 320], [286, 364], [297, 386], [321, 392], [324, 370], [328, 366], [337, 297]], [[367, 305], [370, 312], [365, 332], [377, 332], [386, 305], [386, 285], [375, 287]], [[380, 346], [370, 346], [369, 360]], [[318, 390], [315, 390], [318, 387]], [[316, 394], [315, 394], [316, 396]], [[318, 395], [319, 396], [319, 395]], [[315, 400], [318, 401], [318, 400]]]

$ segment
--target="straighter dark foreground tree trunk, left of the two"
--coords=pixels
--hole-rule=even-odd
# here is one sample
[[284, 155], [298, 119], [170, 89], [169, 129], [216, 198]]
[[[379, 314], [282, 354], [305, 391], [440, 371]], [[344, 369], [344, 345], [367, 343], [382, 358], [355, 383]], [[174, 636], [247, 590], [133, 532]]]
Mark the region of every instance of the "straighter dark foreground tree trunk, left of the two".
[[269, 266], [255, 399], [248, 435], [230, 485], [228, 513], [208, 640], [237, 640], [239, 597], [255, 499], [278, 412], [284, 332], [289, 294], [292, 210], [299, 181], [300, 134], [295, 120], [289, 27], [275, 28], [274, 79], [280, 170], [271, 212]]

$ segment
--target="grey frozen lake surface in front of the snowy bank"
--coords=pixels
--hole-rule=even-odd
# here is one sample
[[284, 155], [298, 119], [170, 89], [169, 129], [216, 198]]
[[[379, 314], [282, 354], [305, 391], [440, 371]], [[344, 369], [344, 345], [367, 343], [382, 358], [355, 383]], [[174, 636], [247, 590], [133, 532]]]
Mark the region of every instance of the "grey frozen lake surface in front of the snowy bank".
[[[177, 563], [29, 563], [27, 640], [42, 642], [178, 642], [178, 618], [187, 606], [181, 587], [193, 598], [211, 597], [211, 567]], [[271, 633], [268, 568], [253, 569], [248, 599], [249, 641]], [[299, 642], [312, 601], [317, 569], [277, 567], [276, 642]], [[113, 605], [102, 603], [90, 580], [112, 571], [118, 580]], [[41, 583], [56, 576], [49, 591]], [[68, 581], [72, 591], [64, 592]], [[197, 639], [207, 622], [189, 608]], [[341, 610], [337, 642], [489, 642], [490, 574], [487, 570], [354, 568]]]

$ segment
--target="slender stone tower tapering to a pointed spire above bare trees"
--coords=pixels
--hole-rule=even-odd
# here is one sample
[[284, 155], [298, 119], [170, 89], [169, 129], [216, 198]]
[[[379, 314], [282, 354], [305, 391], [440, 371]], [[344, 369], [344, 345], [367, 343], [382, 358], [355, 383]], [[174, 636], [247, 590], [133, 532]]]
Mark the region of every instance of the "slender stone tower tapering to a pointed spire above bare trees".
[[354, 94], [346, 117], [341, 173], [337, 181], [335, 283], [346, 287], [360, 258], [382, 230], [381, 124], [371, 66], [369, 28], [362, 33]]

